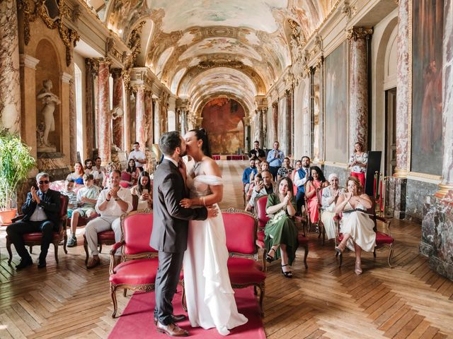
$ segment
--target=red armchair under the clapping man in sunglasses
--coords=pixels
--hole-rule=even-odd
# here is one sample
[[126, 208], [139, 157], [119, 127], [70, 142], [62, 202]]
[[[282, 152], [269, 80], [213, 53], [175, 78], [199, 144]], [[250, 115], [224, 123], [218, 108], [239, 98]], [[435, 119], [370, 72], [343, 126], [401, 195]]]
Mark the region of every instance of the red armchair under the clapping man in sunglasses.
[[[69, 198], [61, 194], [60, 198], [60, 209], [59, 209], [59, 229], [58, 232], [54, 232], [52, 237], [52, 244], [54, 244], [55, 249], [55, 261], [58, 263], [58, 244], [62, 241], [63, 243], [63, 250], [64, 253], [68, 253], [66, 249], [67, 243], [67, 234], [66, 234], [66, 225], [67, 225], [67, 213], [68, 213], [68, 201]], [[23, 215], [19, 215], [13, 221], [18, 221], [23, 218]], [[23, 234], [23, 242], [25, 246], [30, 246], [30, 253], [32, 253], [33, 246], [40, 246], [42, 239], [41, 232], [32, 232]], [[6, 249], [8, 250], [9, 260], [8, 265], [11, 265], [11, 260], [13, 259], [13, 253], [11, 252], [11, 241], [9, 240], [8, 236], [6, 236]]]

